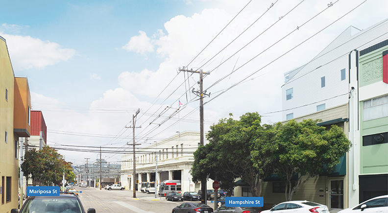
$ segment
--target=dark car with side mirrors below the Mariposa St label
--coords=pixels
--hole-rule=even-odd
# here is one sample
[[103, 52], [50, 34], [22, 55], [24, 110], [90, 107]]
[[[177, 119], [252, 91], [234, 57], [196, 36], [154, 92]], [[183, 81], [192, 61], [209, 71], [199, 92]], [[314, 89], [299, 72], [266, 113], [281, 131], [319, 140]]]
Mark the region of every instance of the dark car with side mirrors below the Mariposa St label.
[[[11, 213], [32, 212], [86, 213], [78, 196], [73, 193], [60, 193], [59, 196], [30, 196], [19, 212], [17, 209], [11, 210]], [[88, 209], [87, 213], [96, 213], [96, 210]]]

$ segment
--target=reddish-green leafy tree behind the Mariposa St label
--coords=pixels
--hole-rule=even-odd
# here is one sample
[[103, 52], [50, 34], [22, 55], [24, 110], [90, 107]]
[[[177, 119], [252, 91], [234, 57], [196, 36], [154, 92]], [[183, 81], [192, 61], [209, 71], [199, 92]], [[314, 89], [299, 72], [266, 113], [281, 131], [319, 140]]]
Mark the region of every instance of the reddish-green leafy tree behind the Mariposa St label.
[[69, 181], [73, 181], [75, 175], [70, 162], [66, 162], [63, 156], [49, 146], [42, 150], [28, 150], [24, 154], [24, 162], [21, 165], [23, 174], [28, 181], [32, 179], [32, 185], [60, 185], [63, 173]]

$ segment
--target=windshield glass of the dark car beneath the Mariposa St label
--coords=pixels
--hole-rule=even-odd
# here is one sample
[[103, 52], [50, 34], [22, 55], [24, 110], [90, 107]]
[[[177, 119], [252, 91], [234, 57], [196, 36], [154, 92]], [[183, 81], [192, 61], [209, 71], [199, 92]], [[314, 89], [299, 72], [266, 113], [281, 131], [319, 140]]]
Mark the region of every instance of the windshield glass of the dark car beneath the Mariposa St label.
[[65, 212], [82, 213], [78, 200], [74, 197], [35, 197], [28, 199], [20, 213]]

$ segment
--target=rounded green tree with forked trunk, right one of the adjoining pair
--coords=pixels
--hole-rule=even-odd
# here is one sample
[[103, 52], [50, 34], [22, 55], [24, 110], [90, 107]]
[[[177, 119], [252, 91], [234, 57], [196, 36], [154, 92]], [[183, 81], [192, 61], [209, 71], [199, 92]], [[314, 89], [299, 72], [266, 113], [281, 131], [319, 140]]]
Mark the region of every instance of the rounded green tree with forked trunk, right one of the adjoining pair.
[[[271, 162], [274, 172], [286, 183], [286, 200], [292, 199], [293, 192], [310, 177], [322, 172], [326, 165], [329, 172], [339, 164], [342, 157], [351, 146], [343, 131], [333, 125], [330, 130], [317, 126], [318, 120], [306, 119], [302, 122], [291, 120], [286, 124], [281, 122], [267, 126], [262, 140], [267, 144], [262, 146], [267, 161]], [[255, 158], [255, 162], [260, 158]], [[291, 178], [298, 174], [298, 179], [292, 186]]]

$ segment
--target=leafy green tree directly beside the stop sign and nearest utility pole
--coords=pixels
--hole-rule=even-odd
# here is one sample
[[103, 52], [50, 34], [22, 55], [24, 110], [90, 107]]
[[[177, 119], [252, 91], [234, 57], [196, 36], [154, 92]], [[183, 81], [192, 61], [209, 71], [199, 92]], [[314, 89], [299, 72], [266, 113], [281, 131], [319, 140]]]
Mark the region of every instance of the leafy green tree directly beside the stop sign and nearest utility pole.
[[211, 126], [209, 143], [194, 152], [193, 181], [217, 176], [222, 188], [233, 189], [235, 179], [241, 178], [251, 187], [253, 196], [260, 196], [262, 179], [269, 173], [267, 165], [253, 166], [251, 157], [257, 136], [263, 131], [260, 123], [258, 113], [246, 113], [240, 120], [224, 118]]

